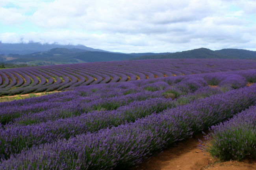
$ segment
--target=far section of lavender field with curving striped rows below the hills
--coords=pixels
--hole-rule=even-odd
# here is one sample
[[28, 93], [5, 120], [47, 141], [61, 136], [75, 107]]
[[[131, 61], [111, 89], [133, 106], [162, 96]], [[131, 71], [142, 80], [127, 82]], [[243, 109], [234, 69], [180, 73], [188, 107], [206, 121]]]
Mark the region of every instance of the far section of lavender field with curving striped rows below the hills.
[[254, 60], [136, 60], [2, 69], [0, 95], [59, 91], [88, 84], [249, 68], [255, 68]]

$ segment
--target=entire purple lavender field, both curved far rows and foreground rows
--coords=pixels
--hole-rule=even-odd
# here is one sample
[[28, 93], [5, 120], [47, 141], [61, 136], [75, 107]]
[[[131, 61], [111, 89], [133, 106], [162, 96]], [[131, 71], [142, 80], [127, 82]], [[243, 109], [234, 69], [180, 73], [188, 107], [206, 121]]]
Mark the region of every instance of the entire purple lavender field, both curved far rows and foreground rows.
[[2, 95], [63, 90], [0, 103], [1, 170], [126, 169], [208, 128], [211, 145], [203, 149], [213, 156], [256, 155], [254, 60], [99, 62], [0, 74]]

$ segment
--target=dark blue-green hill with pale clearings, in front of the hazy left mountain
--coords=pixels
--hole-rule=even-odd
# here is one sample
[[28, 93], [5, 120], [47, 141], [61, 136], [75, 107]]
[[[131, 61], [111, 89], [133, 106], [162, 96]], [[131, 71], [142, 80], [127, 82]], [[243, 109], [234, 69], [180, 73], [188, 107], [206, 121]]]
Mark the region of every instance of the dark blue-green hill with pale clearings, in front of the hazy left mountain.
[[[0, 56], [1, 57], [1, 56]], [[45, 52], [36, 52], [26, 55], [9, 54], [4, 63], [54, 65], [81, 62], [119, 61], [134, 58], [125, 53], [110, 53], [102, 51], [87, 51], [84, 49], [53, 48]], [[8, 60], [7, 60], [8, 59]]]

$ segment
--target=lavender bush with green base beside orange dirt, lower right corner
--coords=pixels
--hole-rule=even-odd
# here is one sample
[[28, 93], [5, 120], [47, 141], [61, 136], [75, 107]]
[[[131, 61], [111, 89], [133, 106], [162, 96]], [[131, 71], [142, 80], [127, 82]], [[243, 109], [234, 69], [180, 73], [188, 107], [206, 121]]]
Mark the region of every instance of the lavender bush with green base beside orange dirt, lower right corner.
[[256, 106], [238, 113], [232, 119], [211, 126], [205, 136], [204, 150], [221, 160], [256, 157]]

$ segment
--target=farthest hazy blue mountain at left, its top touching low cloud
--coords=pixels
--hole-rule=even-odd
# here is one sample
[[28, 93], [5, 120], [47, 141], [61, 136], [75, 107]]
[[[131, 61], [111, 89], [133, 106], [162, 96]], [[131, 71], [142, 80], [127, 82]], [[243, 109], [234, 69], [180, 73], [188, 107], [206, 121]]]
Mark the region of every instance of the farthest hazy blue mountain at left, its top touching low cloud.
[[0, 43], [0, 54], [31, 54], [41, 51], [48, 51], [52, 48], [67, 48], [67, 49], [84, 49], [87, 51], [104, 51], [102, 49], [89, 48], [83, 45], [60, 45], [60, 44], [40, 44], [40, 43], [19, 43], [19, 44], [8, 44]]

